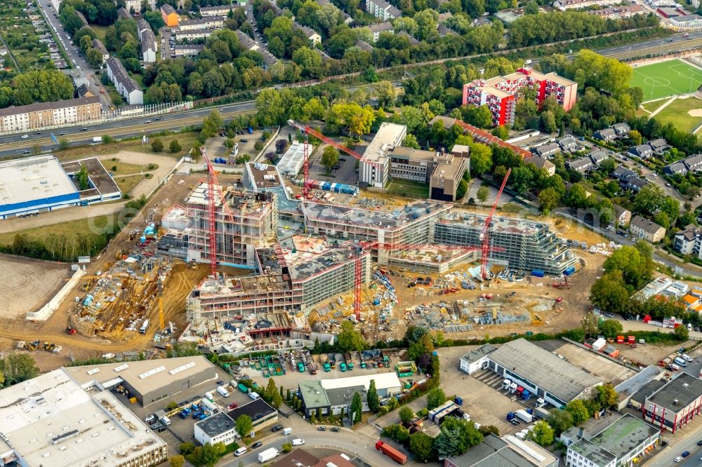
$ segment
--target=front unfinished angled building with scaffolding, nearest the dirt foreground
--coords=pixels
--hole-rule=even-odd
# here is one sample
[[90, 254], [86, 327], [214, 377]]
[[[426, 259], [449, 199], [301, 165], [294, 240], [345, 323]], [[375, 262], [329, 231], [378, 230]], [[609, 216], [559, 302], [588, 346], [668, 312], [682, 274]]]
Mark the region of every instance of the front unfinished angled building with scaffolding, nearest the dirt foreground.
[[[305, 311], [353, 289], [355, 254], [350, 244], [328, 245], [322, 238], [287, 239], [293, 248], [260, 248], [256, 263], [260, 274], [244, 278], [206, 279], [187, 300], [192, 323], [259, 313]], [[362, 283], [369, 283], [369, 252], [362, 252]]]

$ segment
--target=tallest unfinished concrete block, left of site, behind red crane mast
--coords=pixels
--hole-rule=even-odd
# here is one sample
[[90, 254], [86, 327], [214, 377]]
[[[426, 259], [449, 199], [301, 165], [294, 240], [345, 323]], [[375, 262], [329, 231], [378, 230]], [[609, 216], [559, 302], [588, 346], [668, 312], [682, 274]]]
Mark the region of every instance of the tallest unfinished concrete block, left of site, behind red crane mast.
[[[217, 231], [217, 261], [219, 264], [256, 266], [256, 247], [273, 239], [277, 224], [277, 194], [253, 193], [222, 187], [225, 202], [232, 212], [232, 219], [225, 213], [220, 199], [216, 199], [215, 228]], [[187, 259], [208, 262], [210, 238], [207, 212], [207, 184], [202, 182], [185, 200], [188, 225]], [[164, 217], [164, 223], [169, 219]]]

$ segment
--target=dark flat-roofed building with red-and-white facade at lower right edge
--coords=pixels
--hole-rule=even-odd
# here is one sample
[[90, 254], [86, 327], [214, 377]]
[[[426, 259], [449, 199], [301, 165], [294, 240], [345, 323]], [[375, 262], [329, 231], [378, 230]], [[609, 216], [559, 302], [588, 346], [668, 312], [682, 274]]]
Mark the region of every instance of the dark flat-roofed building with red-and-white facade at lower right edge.
[[677, 374], [644, 402], [643, 417], [663, 430], [675, 433], [702, 410], [702, 379], [688, 373]]

